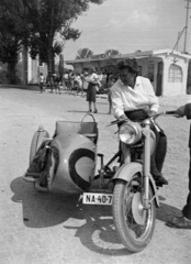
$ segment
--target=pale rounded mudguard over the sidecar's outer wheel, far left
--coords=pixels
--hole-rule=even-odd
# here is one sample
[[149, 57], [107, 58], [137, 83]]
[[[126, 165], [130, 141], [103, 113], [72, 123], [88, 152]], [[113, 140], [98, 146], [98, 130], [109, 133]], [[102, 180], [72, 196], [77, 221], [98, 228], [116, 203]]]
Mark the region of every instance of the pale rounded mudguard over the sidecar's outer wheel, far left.
[[43, 130], [42, 128], [38, 129], [33, 135], [32, 142], [31, 142], [31, 150], [30, 150], [30, 165], [37, 152], [37, 148], [42, 144], [42, 142], [49, 138], [49, 134], [46, 130]]

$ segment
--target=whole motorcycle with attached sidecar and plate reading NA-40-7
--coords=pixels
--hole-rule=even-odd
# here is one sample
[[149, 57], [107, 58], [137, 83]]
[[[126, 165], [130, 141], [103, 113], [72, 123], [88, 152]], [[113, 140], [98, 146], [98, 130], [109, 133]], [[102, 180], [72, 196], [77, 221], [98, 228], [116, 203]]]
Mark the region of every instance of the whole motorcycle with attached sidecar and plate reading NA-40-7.
[[[92, 114], [81, 122], [56, 121], [53, 138], [40, 127], [23, 178], [38, 191], [79, 194], [82, 204], [111, 205], [120, 240], [128, 251], [139, 252], [153, 238], [159, 207], [159, 187], [150, 174], [156, 144], [150, 127], [158, 129], [155, 119], [173, 113], [161, 112], [139, 122], [123, 120], [117, 130], [121, 147], [105, 165], [103, 154], [97, 153], [99, 130]], [[92, 122], [85, 122], [87, 116]], [[101, 165], [96, 175], [98, 158]], [[112, 167], [113, 163], [119, 165]]]

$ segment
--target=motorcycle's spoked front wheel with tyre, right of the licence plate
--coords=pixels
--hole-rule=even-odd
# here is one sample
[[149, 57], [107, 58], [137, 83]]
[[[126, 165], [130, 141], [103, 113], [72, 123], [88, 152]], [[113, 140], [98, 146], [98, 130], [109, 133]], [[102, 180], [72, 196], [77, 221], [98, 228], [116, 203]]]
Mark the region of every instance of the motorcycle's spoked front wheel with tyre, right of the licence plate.
[[[149, 199], [153, 190], [149, 187]], [[149, 243], [156, 219], [156, 205], [151, 200], [150, 208], [143, 210], [142, 184], [138, 175], [130, 182], [117, 179], [113, 191], [113, 220], [116, 232], [132, 252], [144, 250]]]

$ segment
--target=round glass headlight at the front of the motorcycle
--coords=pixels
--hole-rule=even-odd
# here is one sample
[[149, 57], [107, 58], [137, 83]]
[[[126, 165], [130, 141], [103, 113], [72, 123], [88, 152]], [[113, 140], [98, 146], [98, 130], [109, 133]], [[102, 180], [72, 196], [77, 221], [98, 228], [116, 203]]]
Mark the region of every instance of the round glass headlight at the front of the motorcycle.
[[142, 127], [133, 122], [124, 123], [120, 127], [119, 136], [125, 144], [135, 144], [142, 138]]

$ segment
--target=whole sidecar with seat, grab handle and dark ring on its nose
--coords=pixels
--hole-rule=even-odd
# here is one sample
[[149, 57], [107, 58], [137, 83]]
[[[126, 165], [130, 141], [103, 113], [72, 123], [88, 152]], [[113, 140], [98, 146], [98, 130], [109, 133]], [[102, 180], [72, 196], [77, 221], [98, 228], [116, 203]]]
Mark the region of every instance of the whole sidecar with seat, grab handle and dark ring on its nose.
[[[88, 116], [92, 120], [85, 122]], [[30, 165], [23, 178], [40, 191], [88, 191], [94, 178], [98, 136], [92, 114], [86, 114], [81, 122], [56, 121], [52, 138], [40, 127], [32, 139]]]

